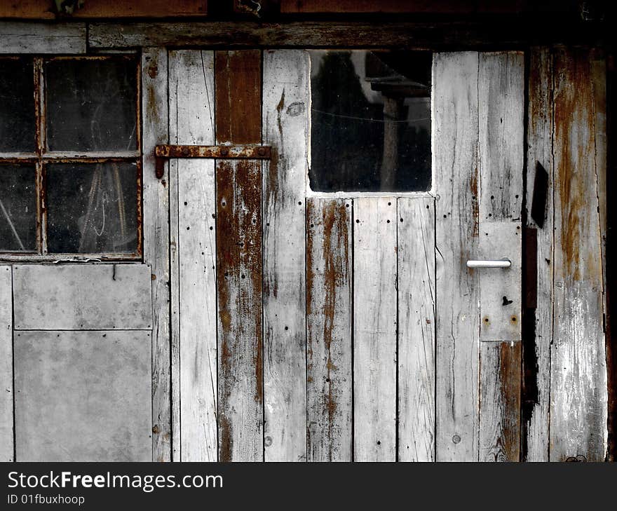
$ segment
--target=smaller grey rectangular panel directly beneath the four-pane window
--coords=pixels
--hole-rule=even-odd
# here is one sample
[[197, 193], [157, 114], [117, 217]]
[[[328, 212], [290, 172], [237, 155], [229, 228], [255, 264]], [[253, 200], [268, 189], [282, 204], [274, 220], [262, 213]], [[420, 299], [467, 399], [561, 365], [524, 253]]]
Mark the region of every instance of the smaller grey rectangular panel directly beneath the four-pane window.
[[150, 283], [144, 264], [16, 264], [15, 329], [151, 329]]

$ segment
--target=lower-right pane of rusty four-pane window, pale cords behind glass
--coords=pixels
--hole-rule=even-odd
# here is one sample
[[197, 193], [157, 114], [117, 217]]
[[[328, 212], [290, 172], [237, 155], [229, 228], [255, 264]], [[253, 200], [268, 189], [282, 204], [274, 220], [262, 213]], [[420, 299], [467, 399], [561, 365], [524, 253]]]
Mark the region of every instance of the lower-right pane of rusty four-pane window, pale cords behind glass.
[[55, 253], [134, 253], [137, 165], [48, 165], [47, 246]]

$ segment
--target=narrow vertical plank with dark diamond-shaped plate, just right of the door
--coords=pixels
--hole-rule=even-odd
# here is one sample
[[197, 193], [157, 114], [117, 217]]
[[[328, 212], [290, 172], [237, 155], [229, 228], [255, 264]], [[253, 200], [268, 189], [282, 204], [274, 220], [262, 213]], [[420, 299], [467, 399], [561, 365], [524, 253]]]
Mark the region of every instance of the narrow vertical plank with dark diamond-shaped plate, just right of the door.
[[[552, 176], [552, 55], [531, 48], [527, 113], [527, 226], [537, 229], [537, 299], [533, 332], [524, 339], [523, 461], [548, 461], [550, 343], [552, 342], [552, 273], [554, 186]], [[548, 172], [543, 225], [531, 218], [536, 165]], [[540, 191], [538, 191], [540, 193]], [[540, 198], [540, 197], [538, 197]], [[530, 313], [531, 311], [528, 311]]]

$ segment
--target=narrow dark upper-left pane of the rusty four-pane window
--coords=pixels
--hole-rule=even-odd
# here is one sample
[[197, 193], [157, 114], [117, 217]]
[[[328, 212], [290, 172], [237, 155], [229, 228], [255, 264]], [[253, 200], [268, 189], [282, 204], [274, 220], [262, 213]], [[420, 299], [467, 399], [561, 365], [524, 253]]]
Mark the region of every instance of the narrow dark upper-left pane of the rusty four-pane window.
[[34, 152], [32, 60], [0, 59], [0, 151]]

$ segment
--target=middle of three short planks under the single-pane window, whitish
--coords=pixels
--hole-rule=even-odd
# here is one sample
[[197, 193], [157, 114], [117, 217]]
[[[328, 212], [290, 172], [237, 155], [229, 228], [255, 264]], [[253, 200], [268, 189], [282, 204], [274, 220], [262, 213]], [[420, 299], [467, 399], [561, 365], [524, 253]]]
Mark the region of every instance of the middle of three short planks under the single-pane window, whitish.
[[396, 459], [396, 199], [354, 200], [355, 461]]

